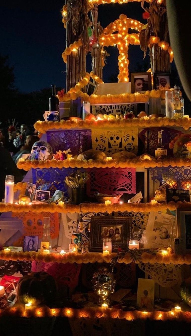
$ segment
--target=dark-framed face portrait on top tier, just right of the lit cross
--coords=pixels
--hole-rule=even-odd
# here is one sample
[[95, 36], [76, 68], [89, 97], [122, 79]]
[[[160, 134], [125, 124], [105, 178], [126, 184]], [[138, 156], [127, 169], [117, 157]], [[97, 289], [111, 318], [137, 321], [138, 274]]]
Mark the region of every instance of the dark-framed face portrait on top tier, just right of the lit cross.
[[151, 73], [150, 72], [135, 72], [131, 73], [131, 92], [144, 93], [152, 90]]

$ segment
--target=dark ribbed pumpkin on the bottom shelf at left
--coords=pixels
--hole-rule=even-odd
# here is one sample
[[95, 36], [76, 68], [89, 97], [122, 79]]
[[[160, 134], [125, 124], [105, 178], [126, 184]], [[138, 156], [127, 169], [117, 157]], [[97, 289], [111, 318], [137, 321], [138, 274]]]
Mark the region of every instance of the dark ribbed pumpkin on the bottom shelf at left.
[[32, 272], [18, 281], [17, 297], [22, 303], [51, 305], [56, 296], [54, 278], [46, 272]]

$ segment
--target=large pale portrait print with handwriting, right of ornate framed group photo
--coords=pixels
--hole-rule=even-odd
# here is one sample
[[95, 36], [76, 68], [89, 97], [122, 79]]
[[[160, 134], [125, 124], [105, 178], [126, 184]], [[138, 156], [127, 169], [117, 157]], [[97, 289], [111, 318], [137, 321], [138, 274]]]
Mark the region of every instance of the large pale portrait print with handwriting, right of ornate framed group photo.
[[151, 211], [146, 227], [144, 248], [167, 248], [177, 236], [176, 217]]

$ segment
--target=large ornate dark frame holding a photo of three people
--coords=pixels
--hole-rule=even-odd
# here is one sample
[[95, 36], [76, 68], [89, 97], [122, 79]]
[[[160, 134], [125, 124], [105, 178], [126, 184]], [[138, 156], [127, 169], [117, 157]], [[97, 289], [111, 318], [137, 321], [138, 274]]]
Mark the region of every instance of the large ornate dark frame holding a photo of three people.
[[111, 238], [112, 252], [117, 252], [119, 247], [127, 249], [131, 230], [131, 217], [92, 216], [89, 250], [102, 252], [104, 238]]

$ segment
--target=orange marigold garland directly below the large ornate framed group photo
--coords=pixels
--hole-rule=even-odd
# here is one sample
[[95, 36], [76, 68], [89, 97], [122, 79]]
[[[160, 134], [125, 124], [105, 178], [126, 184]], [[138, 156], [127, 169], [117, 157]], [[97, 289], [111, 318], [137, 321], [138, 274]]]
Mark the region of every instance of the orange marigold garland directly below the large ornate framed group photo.
[[[0, 260], [27, 260], [27, 261], [44, 261], [44, 262], [58, 262], [64, 263], [67, 262], [73, 264], [76, 262], [77, 264], [82, 263], [110, 263], [116, 257], [116, 253], [111, 253], [107, 255], [103, 255], [103, 253], [98, 252], [89, 252], [84, 254], [73, 254], [73, 253], [66, 253], [64, 255], [60, 255], [59, 253], [50, 253], [50, 254], [43, 254], [42, 252], [5, 252], [4, 250], [0, 251]], [[125, 263], [129, 264], [133, 261], [133, 254], [131, 256], [130, 253], [126, 253], [123, 258], [117, 260], [118, 263]], [[136, 260], [136, 263], [143, 262], [150, 264], [170, 264], [173, 263], [174, 265], [191, 265], [191, 254], [175, 254], [175, 253], [168, 253], [167, 255], [162, 255], [160, 252], [149, 253], [149, 252], [142, 252], [139, 260]]]

